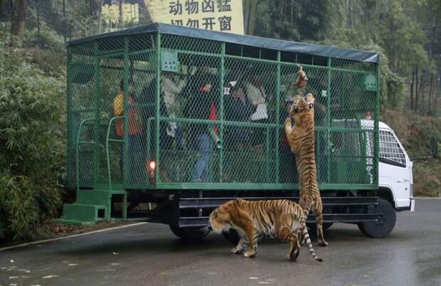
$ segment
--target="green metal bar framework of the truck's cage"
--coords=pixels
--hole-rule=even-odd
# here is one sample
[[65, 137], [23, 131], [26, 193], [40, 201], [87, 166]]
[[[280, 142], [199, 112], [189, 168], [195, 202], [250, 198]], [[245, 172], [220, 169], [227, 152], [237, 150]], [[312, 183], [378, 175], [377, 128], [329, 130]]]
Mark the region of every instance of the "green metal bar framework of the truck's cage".
[[[75, 184], [77, 189], [81, 189], [84, 187], [84, 185], [81, 182], [80, 179], [80, 146], [81, 145], [91, 145], [92, 146], [92, 182], [91, 184], [87, 183], [85, 185], [92, 186], [93, 188], [108, 188], [110, 189], [110, 197], [111, 199], [112, 194], [116, 194], [118, 190], [122, 189], [144, 189], [144, 190], [291, 190], [291, 189], [298, 189], [297, 183], [282, 183], [280, 182], [280, 132], [283, 132], [282, 125], [280, 125], [280, 122], [277, 122], [277, 119], [280, 118], [280, 110], [282, 105], [282, 98], [281, 98], [281, 86], [282, 86], [282, 68], [286, 67], [297, 67], [298, 64], [301, 64], [304, 68], [311, 68], [311, 69], [320, 69], [323, 70], [324, 73], [326, 73], [327, 78], [327, 89], [326, 89], [326, 126], [317, 126], [316, 132], [324, 132], [326, 134], [326, 139], [330, 140], [331, 132], [342, 132], [343, 134], [345, 132], [353, 132], [354, 134], [362, 134], [363, 132], [366, 132], [366, 130], [363, 130], [361, 126], [358, 127], [333, 127], [332, 126], [332, 117], [331, 117], [331, 98], [334, 95], [334, 93], [339, 92], [336, 90], [332, 90], [331, 82], [333, 80], [333, 76], [336, 73], [346, 73], [346, 74], [354, 74], [354, 75], [371, 75], [372, 73], [376, 75], [377, 85], [375, 92], [375, 102], [373, 103], [374, 110], [373, 111], [373, 137], [374, 137], [374, 144], [373, 144], [373, 153], [372, 153], [372, 159], [373, 159], [373, 180], [367, 181], [365, 184], [334, 184], [329, 181], [329, 178], [331, 176], [331, 160], [327, 160], [327, 182], [326, 183], [319, 183], [319, 188], [321, 190], [374, 190], [378, 189], [378, 111], [379, 111], [379, 65], [378, 65], [378, 55], [376, 53], [366, 53], [368, 55], [368, 59], [365, 60], [354, 60], [349, 56], [348, 54], [353, 50], [346, 50], [346, 49], [340, 49], [341, 55], [335, 55], [336, 51], [339, 51], [338, 48], [332, 48], [332, 47], [325, 47], [324, 51], [317, 51], [318, 45], [309, 45], [310, 48], [312, 48], [311, 52], [305, 52], [305, 53], [299, 53], [298, 51], [295, 54], [295, 61], [294, 62], [287, 62], [282, 60], [282, 55], [285, 52], [289, 52], [288, 49], [284, 49], [282, 42], [285, 43], [285, 41], [277, 41], [275, 43], [275, 47], [280, 46], [280, 49], [274, 49], [272, 46], [265, 46], [266, 43], [270, 43], [268, 41], [264, 41], [262, 45], [250, 46], [250, 43], [254, 43], [253, 41], [259, 40], [257, 37], [250, 37], [250, 36], [235, 36], [235, 41], [230, 41], [228, 39], [228, 36], [223, 35], [223, 33], [216, 33], [216, 32], [208, 32], [208, 31], [198, 31], [197, 29], [192, 28], [184, 28], [184, 27], [176, 27], [176, 31], [174, 30], [175, 27], [171, 27], [169, 25], [164, 24], [151, 24], [147, 26], [147, 28], [129, 28], [125, 31], [118, 31], [114, 33], [108, 33], [105, 35], [100, 35], [92, 38], [85, 38], [81, 39], [79, 41], [73, 41], [69, 43], [68, 45], [68, 87], [67, 87], [67, 95], [68, 95], [68, 137], [69, 138], [75, 138], [76, 135], [76, 141], [73, 139], [69, 140], [68, 144], [68, 174], [75, 174], [75, 176], [71, 176], [71, 180], [69, 181], [70, 185]], [[181, 29], [181, 30], [179, 30]], [[162, 31], [164, 30], [164, 31]], [[174, 32], [171, 32], [171, 31]], [[180, 34], [182, 32], [182, 34]], [[187, 38], [188, 41], [192, 41], [192, 39], [200, 39], [204, 38], [206, 34], [203, 34], [201, 36], [201, 33], [209, 33], [211, 35], [211, 39], [208, 39], [208, 43], [216, 43], [218, 46], [219, 51], [217, 53], [206, 52], [206, 51], [189, 51], [186, 48], [175, 48], [174, 50], [178, 53], [183, 54], [190, 54], [190, 55], [198, 55], [198, 56], [206, 56], [211, 58], [217, 58], [219, 60], [220, 66], [219, 66], [219, 72], [220, 72], [220, 83], [219, 83], [219, 99], [220, 99], [220, 118], [218, 120], [195, 120], [195, 119], [189, 119], [189, 118], [174, 118], [174, 122], [182, 122], [182, 123], [198, 123], [198, 124], [206, 124], [209, 126], [218, 125], [219, 126], [219, 137], [221, 140], [223, 140], [223, 130], [225, 126], [243, 126], [243, 127], [263, 127], [269, 129], [274, 129], [276, 136], [273, 138], [269, 138], [269, 140], [272, 140], [271, 144], [274, 144], [275, 148], [275, 169], [274, 169], [274, 175], [272, 175], [272, 179], [269, 179], [267, 182], [254, 182], [254, 183], [234, 183], [234, 182], [225, 182], [223, 181], [223, 168], [224, 168], [224, 157], [223, 157], [223, 147], [219, 149], [219, 156], [218, 156], [218, 181], [216, 182], [208, 182], [208, 183], [191, 183], [191, 182], [163, 182], [160, 178], [160, 168], [161, 168], [161, 156], [160, 156], [160, 124], [162, 121], [167, 122], [171, 121], [169, 117], [161, 117], [160, 115], [160, 97], [161, 97], [161, 90], [160, 90], [160, 83], [161, 83], [161, 51], [164, 51], [168, 49], [167, 47], [162, 46], [161, 44], [164, 43], [164, 35], [165, 37], [170, 36], [181, 36], [184, 38]], [[131, 48], [131, 41], [136, 42], [134, 36], [137, 35], [144, 35], [146, 38], [150, 36], [152, 38], [152, 45], [146, 48], [139, 48], [139, 51], [130, 51]], [[148, 36], [147, 36], [148, 35]], [[193, 35], [193, 36], [191, 36]], [[227, 37], [227, 38], [225, 38]], [[218, 38], [218, 41], [214, 40], [214, 38]], [[266, 39], [268, 40], [268, 39]], [[118, 41], [117, 48], [107, 48], [106, 45], [112, 46], [112, 41]], [[170, 40], [171, 41], [171, 40]], [[241, 43], [243, 41], [243, 43]], [[240, 46], [240, 55], [231, 55], [226, 53], [226, 48], [228, 44], [235, 44]], [[257, 43], [257, 42], [256, 42]], [[136, 43], [139, 45], [139, 43]], [[216, 46], [215, 44], [213, 44]], [[303, 46], [301, 48], [304, 48], [305, 46], [308, 47], [307, 44], [302, 44]], [[101, 49], [103, 46], [106, 48]], [[255, 49], [255, 51], [258, 51], [259, 55], [256, 58], [252, 58], [249, 56], [244, 55], [244, 48]], [[75, 51], [76, 50], [76, 51]], [[267, 59], [262, 58], [262, 53], [264, 51], [270, 50], [275, 53], [276, 58], [275, 59]], [[156, 161], [156, 169], [154, 170], [154, 184], [144, 184], [142, 186], [130, 186], [130, 184], [127, 184], [127, 181], [129, 181], [129, 176], [131, 174], [127, 174], [127, 172], [123, 172], [122, 174], [122, 184], [115, 184], [112, 182], [112, 170], [110, 166], [110, 143], [111, 142], [117, 142], [117, 143], [123, 143], [124, 144], [124, 153], [122, 155], [123, 161], [124, 161], [124, 169], [127, 170], [127, 162], [129, 161], [129, 158], [127, 157], [128, 150], [128, 134], [127, 132], [124, 132], [123, 139], [115, 139], [110, 138], [110, 129], [112, 128], [112, 122], [114, 122], [117, 119], [124, 119], [124, 126], [127, 126], [127, 117], [112, 117], [110, 119], [110, 122], [108, 122], [108, 125], [105, 126], [105, 131], [107, 131], [107, 137], [106, 137], [106, 161], [107, 161], [107, 181], [99, 181], [97, 179], [100, 170], [100, 162], [97, 161], [97, 153], [100, 152], [98, 147], [98, 142], [100, 141], [100, 70], [102, 68], [101, 60], [102, 58], [122, 58], [122, 61], [124, 65], [122, 66], [122, 78], [124, 82], [124, 92], [128, 94], [128, 85], [129, 85], [129, 78], [131, 77], [131, 66], [130, 66], [130, 57], [137, 54], [137, 53], [152, 53], [152, 58], [156, 60], [156, 63], [154, 65], [154, 75], [156, 80], [156, 112], [155, 117], [152, 119], [152, 122], [154, 122], [155, 125], [155, 139], [154, 139], [154, 160]], [[293, 52], [290, 52], [293, 53]], [[326, 53], [328, 56], [326, 56]], [[354, 51], [354, 53], [364, 53], [361, 51]], [[75, 54], [83, 54], [87, 55], [87, 60], [79, 60], [75, 61], [73, 58]], [[312, 57], [312, 63], [305, 63], [302, 61], [297, 61], [297, 55], [309, 55]], [[334, 55], [334, 56], [331, 56]], [[326, 58], [326, 65], [317, 65], [314, 64], [314, 56], [317, 58]], [[262, 64], [268, 64], [268, 65], [275, 65], [276, 68], [276, 84], [275, 84], [275, 122], [269, 122], [269, 123], [253, 123], [253, 122], [228, 122], [224, 120], [224, 102], [223, 102], [223, 88], [225, 87], [225, 60], [245, 60], [249, 63], [262, 63]], [[350, 63], [354, 63], [354, 65], [357, 65], [360, 63], [360, 68], [345, 68], [345, 67], [339, 67], [338, 63], [341, 61], [348, 60]], [[336, 65], [334, 65], [336, 63]], [[365, 69], [363, 68], [363, 63], [369, 63], [371, 65], [375, 65], [375, 69]], [[73, 129], [76, 127], [73, 125], [72, 120], [72, 108], [73, 108], [73, 74], [75, 68], [78, 68], [78, 66], [75, 65], [92, 65], [92, 73], [91, 78], [94, 80], [93, 83], [93, 104], [94, 107], [93, 113], [94, 117], [87, 118], [85, 120], [82, 120], [80, 122], [80, 125], [78, 127], [78, 131], [74, 132]], [[84, 76], [84, 75], [83, 75]], [[128, 105], [127, 97], [124, 97], [124, 115], [127, 115], [128, 111]], [[360, 119], [358, 118], [358, 122]], [[92, 137], [91, 140], [83, 140], [81, 138], [82, 135], [82, 127], [86, 125], [87, 122], [93, 122], [91, 134]], [[149, 122], [147, 122], [147, 125], [149, 125]], [[150, 126], [150, 125], [149, 125]], [[278, 130], [278, 131], [277, 131]], [[268, 140], [268, 138], [266, 138]], [[268, 141], [267, 141], [268, 142]], [[74, 148], [72, 146], [72, 143], [75, 144]], [[71, 150], [75, 150], [75, 156], [73, 156], [73, 152]], [[326, 146], [326, 156], [327, 158], [331, 158], [331, 152], [332, 147], [330, 144], [327, 144]], [[366, 157], [366, 152], [364, 154], [364, 157]], [[74, 159], [75, 158], [75, 159]], [[72, 166], [72, 163], [75, 162], [75, 167]], [[269, 163], [268, 163], [269, 164]], [[351, 174], [349, 174], [350, 176]], [[75, 178], [75, 181], [72, 181], [72, 178]], [[120, 182], [121, 183], [121, 182]]]

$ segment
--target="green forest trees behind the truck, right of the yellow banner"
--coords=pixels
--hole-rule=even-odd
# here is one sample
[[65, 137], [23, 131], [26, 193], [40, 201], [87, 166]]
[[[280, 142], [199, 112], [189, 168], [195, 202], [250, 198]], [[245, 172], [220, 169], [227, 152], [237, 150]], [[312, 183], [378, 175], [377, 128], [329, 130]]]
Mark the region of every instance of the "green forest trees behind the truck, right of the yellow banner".
[[[402, 110], [410, 101], [406, 85], [410, 80], [406, 78], [414, 68], [434, 73], [438, 65], [441, 70], [440, 37], [436, 36], [441, 28], [440, 1], [263, 0], [258, 3], [256, 36], [380, 53], [382, 110], [390, 107]], [[427, 37], [429, 31], [430, 38]], [[427, 83], [425, 89], [427, 93]]]

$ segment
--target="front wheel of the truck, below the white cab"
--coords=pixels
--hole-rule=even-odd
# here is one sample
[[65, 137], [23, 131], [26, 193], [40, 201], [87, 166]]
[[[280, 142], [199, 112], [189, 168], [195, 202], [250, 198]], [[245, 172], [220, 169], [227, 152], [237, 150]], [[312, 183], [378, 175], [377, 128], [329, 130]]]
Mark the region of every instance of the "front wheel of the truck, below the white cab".
[[393, 206], [383, 198], [378, 199], [376, 207], [378, 213], [382, 213], [382, 221], [365, 221], [358, 223], [358, 228], [362, 233], [370, 238], [384, 238], [395, 226], [396, 215]]

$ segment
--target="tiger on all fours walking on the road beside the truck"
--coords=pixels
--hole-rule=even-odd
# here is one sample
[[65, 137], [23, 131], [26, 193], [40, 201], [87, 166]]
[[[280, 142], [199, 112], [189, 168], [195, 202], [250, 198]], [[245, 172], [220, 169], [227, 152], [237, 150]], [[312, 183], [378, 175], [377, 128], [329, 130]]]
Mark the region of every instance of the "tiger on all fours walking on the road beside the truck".
[[236, 198], [216, 208], [211, 214], [208, 230], [221, 233], [234, 228], [240, 234], [238, 245], [231, 253], [244, 253], [246, 258], [257, 255], [257, 240], [273, 238], [287, 240], [291, 244], [289, 261], [295, 261], [300, 252], [299, 234], [306, 239], [309, 251], [317, 261], [322, 261], [314, 253], [306, 227], [306, 217], [298, 203], [288, 200], [245, 201]]

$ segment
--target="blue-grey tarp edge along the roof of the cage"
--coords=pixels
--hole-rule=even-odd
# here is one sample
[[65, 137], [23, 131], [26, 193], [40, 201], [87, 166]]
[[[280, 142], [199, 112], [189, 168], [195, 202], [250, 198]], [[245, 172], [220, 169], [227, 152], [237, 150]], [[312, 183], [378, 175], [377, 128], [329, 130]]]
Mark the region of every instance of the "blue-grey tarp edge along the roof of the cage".
[[333, 46], [322, 46], [312, 43], [298, 43], [292, 41], [276, 40], [273, 38], [262, 38], [256, 36], [238, 35], [218, 31], [209, 31], [200, 28], [189, 28], [165, 23], [150, 23], [144, 26], [126, 28], [123, 30], [103, 33], [96, 36], [80, 38], [70, 41], [68, 46], [75, 46], [80, 43], [112, 38], [117, 36], [131, 36], [143, 33], [158, 32], [163, 34], [186, 36], [191, 38], [203, 38], [207, 40], [220, 41], [225, 43], [235, 43], [245, 46], [258, 48], [268, 48], [277, 51], [287, 51], [292, 53], [304, 53], [309, 55], [320, 55], [331, 58], [343, 58], [346, 60], [356, 60], [362, 62], [378, 63], [378, 53], [354, 50], [349, 48], [338, 48]]

